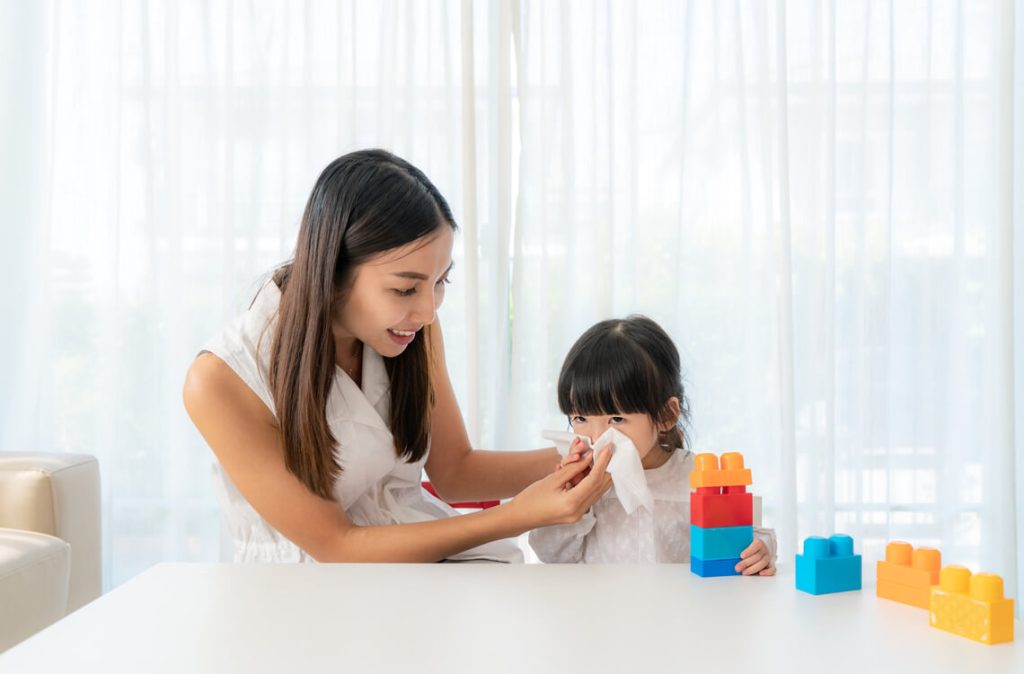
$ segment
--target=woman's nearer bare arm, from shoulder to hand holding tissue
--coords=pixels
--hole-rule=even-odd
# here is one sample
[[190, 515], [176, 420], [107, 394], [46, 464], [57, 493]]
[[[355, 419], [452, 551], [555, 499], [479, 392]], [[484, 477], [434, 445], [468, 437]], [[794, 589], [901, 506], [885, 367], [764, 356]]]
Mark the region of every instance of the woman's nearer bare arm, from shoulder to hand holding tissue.
[[321, 561], [436, 561], [537, 526], [575, 521], [610, 486], [602, 455], [588, 478], [571, 490], [565, 485], [575, 473], [560, 470], [513, 501], [481, 512], [358, 526], [338, 503], [319, 498], [288, 470], [273, 415], [223, 361], [212, 353], [198, 357], [183, 397], [242, 495], [271, 526]]

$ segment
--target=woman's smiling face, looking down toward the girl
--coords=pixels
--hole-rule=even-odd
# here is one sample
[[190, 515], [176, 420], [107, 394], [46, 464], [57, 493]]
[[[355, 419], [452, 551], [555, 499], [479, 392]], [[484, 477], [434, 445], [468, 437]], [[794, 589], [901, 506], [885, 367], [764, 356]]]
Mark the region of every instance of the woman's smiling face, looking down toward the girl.
[[355, 267], [335, 310], [335, 341], [355, 338], [384, 357], [406, 350], [444, 300], [455, 235], [446, 224]]

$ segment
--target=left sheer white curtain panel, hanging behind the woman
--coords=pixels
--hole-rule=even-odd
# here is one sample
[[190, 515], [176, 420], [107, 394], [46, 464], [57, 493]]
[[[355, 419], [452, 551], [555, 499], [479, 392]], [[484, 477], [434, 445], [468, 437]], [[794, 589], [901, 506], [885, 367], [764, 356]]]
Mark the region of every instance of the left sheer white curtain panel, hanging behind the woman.
[[[497, 247], [493, 148], [511, 133], [492, 128], [488, 45], [502, 27], [458, 2], [3, 12], [0, 449], [99, 457], [108, 587], [158, 560], [216, 558], [212, 457], [181, 406], [189, 362], [288, 258], [318, 172], [357, 148], [431, 176], [460, 212], [460, 275], [489, 281], [461, 243], [481, 259]], [[453, 352], [477, 338], [461, 317], [481, 293], [462, 290]]]

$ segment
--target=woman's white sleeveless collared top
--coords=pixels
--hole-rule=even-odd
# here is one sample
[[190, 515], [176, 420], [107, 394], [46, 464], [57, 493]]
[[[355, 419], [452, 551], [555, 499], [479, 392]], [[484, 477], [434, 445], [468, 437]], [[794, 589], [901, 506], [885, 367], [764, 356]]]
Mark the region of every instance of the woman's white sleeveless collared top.
[[[204, 348], [224, 363], [276, 416], [267, 383], [272, 327], [281, 290], [268, 282], [248, 311], [231, 321]], [[421, 486], [425, 455], [415, 463], [399, 459], [386, 419], [390, 399], [384, 359], [362, 349], [362, 388], [339, 367], [327, 402], [327, 420], [338, 443], [335, 459], [341, 475], [334, 498], [358, 525], [399, 524], [451, 517], [458, 513]], [[285, 538], [249, 504], [220, 467], [214, 465], [214, 489], [234, 541], [236, 561], [314, 561]], [[522, 561], [510, 540], [487, 543], [453, 555], [451, 560]]]

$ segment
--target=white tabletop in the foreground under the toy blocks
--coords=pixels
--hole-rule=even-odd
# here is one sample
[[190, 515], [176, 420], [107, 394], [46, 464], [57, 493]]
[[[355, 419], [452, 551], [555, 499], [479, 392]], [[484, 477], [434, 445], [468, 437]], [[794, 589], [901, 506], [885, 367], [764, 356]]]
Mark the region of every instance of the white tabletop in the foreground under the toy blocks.
[[0, 672], [1024, 672], [861, 592], [687, 565], [160, 564]]

